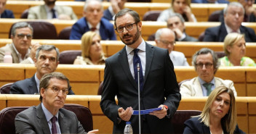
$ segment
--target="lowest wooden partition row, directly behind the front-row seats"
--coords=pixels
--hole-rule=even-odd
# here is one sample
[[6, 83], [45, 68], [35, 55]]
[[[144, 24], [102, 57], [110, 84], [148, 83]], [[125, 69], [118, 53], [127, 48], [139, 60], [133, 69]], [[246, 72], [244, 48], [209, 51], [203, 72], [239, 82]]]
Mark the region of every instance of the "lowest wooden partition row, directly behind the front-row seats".
[[[92, 112], [94, 129], [100, 133], [112, 133], [113, 122], [100, 109], [101, 96], [67, 96], [66, 104], [81, 104]], [[207, 97], [183, 98], [178, 110], [202, 110]], [[9, 106], [33, 106], [39, 104], [39, 95], [0, 95], [0, 109]], [[245, 133], [256, 133], [256, 97], [236, 97], [238, 124]]]

